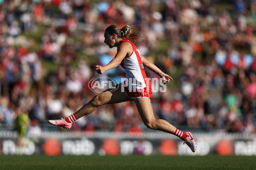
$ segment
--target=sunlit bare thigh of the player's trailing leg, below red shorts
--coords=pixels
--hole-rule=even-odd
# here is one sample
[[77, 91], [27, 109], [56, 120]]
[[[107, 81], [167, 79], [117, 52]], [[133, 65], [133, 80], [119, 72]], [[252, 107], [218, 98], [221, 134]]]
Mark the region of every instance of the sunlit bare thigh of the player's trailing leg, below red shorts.
[[140, 117], [144, 123], [149, 123], [155, 120], [153, 108], [148, 98], [133, 99], [137, 109], [140, 113]]

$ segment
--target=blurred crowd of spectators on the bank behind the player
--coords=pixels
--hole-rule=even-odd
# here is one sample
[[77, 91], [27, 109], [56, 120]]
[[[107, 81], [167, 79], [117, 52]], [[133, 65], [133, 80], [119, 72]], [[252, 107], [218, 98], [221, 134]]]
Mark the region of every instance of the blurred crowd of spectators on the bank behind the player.
[[[75, 113], [96, 95], [88, 88], [99, 77], [94, 66], [116, 53], [104, 44], [105, 28], [136, 25], [146, 39], [136, 43], [141, 54], [175, 78], [152, 95], [156, 118], [256, 133], [255, 23], [255, 0], [0, 0], [0, 127], [38, 134], [48, 119]], [[39, 39], [26, 36], [41, 28]], [[70, 130], [142, 133], [145, 125], [124, 102], [99, 107]]]

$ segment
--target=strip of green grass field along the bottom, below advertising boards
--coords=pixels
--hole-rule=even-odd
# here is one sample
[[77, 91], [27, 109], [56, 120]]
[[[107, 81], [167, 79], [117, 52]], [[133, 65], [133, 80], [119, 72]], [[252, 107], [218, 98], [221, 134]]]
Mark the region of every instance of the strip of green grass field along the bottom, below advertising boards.
[[0, 156], [0, 170], [255, 170], [256, 156]]

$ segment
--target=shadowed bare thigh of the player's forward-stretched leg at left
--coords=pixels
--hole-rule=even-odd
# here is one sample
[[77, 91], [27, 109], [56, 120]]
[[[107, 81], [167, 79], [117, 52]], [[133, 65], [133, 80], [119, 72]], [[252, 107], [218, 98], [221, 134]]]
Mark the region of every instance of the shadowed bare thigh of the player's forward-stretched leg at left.
[[130, 98], [127, 96], [124, 90], [122, 90], [121, 85], [116, 85], [116, 88], [107, 89], [100, 94], [100, 98], [105, 100], [105, 104], [113, 104], [113, 103], [120, 103], [120, 102], [127, 102], [131, 101]]

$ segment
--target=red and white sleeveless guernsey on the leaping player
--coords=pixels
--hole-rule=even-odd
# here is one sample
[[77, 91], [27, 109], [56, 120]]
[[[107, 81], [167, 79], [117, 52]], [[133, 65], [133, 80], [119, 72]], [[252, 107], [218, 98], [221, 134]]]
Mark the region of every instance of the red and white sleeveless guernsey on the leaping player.
[[128, 79], [127, 88], [131, 90], [142, 89], [150, 86], [151, 82], [146, 76], [143, 66], [142, 58], [139, 49], [129, 40], [122, 40], [122, 42], [129, 42], [132, 45], [133, 52], [130, 56], [125, 57], [120, 65], [125, 69], [125, 77]]

